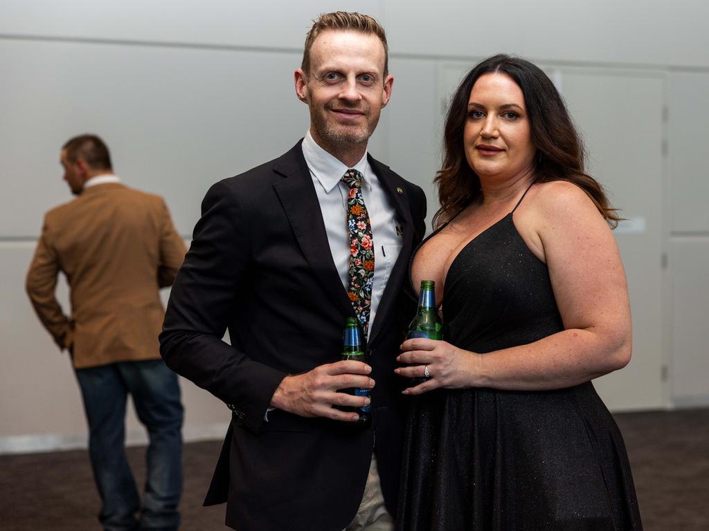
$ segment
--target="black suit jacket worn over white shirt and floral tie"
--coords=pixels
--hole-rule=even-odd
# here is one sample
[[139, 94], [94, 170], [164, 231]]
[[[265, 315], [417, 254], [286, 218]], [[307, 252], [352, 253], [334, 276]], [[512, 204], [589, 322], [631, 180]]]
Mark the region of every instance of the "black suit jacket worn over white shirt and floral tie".
[[[349, 525], [376, 456], [386, 506], [396, 510], [404, 382], [394, 375], [401, 297], [411, 249], [425, 232], [418, 186], [369, 158], [398, 222], [403, 249], [372, 324], [374, 430], [264, 412], [281, 379], [340, 359], [354, 316], [330, 253], [301, 142], [283, 156], [213, 185], [172, 287], [160, 352], [167, 365], [233, 404], [229, 433], [205, 504], [228, 501], [239, 531], [334, 531]], [[228, 329], [231, 345], [222, 337]]]

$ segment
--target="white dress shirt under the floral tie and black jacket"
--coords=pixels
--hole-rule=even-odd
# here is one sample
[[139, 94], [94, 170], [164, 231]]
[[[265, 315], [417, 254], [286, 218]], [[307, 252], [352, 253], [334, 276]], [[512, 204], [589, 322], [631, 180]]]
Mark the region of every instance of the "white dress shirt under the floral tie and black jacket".
[[[347, 230], [347, 194], [350, 188], [342, 182], [342, 176], [349, 169], [333, 155], [320, 147], [308, 130], [303, 139], [303, 156], [310, 169], [315, 185], [320, 211], [323, 213], [325, 230], [328, 233], [330, 252], [333, 254], [335, 268], [340, 273], [342, 286], [347, 291], [347, 271], [350, 269], [350, 233]], [[367, 161], [367, 153], [352, 168], [362, 173], [362, 197], [367, 207], [369, 221], [372, 223], [372, 241], [374, 244], [374, 284], [372, 285], [372, 307], [369, 313], [369, 330], [374, 326], [376, 309], [384, 294], [391, 268], [396, 263], [398, 253], [403, 246], [403, 232], [397, 227], [389, 197]], [[345, 326], [345, 323], [342, 323]]]

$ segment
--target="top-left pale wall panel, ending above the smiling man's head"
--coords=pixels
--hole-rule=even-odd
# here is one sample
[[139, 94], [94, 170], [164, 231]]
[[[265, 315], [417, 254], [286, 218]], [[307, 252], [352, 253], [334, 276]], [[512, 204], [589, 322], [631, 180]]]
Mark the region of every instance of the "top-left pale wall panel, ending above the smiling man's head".
[[187, 42], [302, 50], [328, 11], [379, 16], [376, 0], [4, 0], [0, 35]]

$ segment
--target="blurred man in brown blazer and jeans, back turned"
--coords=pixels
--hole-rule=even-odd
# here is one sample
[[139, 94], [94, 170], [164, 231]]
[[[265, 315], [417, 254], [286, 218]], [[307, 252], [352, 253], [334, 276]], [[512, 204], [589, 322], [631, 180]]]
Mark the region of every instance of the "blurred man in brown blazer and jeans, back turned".
[[[106, 531], [176, 530], [182, 491], [182, 404], [177, 376], [160, 358], [164, 309], [185, 254], [167, 206], [113, 175], [106, 144], [70, 139], [64, 178], [78, 197], [45, 215], [27, 292], [57, 345], [69, 350], [89, 423], [89, 454]], [[71, 316], [55, 297], [70, 287]], [[125, 402], [150, 438], [142, 503], [125, 457]]]

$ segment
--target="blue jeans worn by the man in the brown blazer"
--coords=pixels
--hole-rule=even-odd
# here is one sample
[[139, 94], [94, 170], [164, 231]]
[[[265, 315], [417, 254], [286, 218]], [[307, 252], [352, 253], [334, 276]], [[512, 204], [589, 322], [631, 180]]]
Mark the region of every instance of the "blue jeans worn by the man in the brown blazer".
[[[89, 422], [89, 455], [103, 503], [99, 520], [104, 530], [177, 530], [182, 493], [177, 375], [162, 360], [111, 363], [77, 369], [76, 374]], [[150, 440], [142, 504], [125, 456], [128, 393]]]

